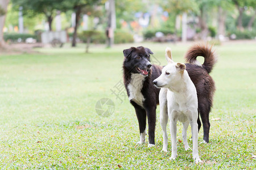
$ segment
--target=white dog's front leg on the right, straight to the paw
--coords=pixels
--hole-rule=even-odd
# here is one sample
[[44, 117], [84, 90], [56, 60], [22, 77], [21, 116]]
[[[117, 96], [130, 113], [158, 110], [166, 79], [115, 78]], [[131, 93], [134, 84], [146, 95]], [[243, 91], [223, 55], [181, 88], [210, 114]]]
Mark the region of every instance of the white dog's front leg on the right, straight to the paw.
[[198, 154], [198, 128], [197, 128], [197, 122], [193, 121], [190, 122], [191, 124], [191, 131], [192, 131], [192, 138], [193, 138], [193, 160], [195, 160], [195, 163], [202, 162], [199, 158]]

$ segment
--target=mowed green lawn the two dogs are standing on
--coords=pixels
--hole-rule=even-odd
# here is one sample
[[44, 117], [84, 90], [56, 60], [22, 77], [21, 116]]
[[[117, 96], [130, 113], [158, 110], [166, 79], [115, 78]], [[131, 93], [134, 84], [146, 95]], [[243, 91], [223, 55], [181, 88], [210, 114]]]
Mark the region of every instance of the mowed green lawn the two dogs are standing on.
[[[112, 49], [97, 45], [88, 54], [85, 45], [70, 48], [67, 44], [32, 54], [1, 55], [1, 169], [255, 169], [256, 42], [215, 46], [218, 63], [210, 75], [217, 90], [210, 113], [210, 142], [199, 144], [201, 164], [193, 163], [192, 151], [184, 151], [179, 142], [180, 123], [177, 159], [169, 160], [169, 130], [168, 152], [161, 151], [159, 107], [156, 146], [147, 147], [147, 135], [145, 145], [136, 145], [139, 128], [122, 85], [122, 50], [139, 45], [154, 52], [154, 63], [166, 65], [166, 46], [172, 48], [176, 62], [184, 62], [191, 44], [126, 44]], [[102, 98], [115, 104], [109, 117], [96, 113]]]

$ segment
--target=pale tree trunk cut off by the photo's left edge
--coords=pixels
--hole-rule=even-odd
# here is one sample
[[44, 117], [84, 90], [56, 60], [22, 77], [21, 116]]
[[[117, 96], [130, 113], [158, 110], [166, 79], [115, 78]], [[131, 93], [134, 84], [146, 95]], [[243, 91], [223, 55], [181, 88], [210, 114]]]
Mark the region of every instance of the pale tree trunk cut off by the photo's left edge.
[[[8, 6], [9, 0], [1, 0], [0, 1], [0, 6], [3, 8], [3, 10], [5, 10], [7, 12], [7, 6]], [[0, 48], [5, 48], [6, 44], [5, 44], [5, 40], [3, 40], [3, 27], [5, 26], [5, 17], [6, 14], [4, 15], [0, 15]]]

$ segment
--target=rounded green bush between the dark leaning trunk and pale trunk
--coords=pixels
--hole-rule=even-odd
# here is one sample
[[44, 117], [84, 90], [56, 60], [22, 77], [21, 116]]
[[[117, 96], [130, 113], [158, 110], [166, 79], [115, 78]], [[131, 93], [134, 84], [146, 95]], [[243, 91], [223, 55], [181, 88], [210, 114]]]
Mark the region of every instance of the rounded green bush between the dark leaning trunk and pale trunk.
[[87, 42], [88, 37], [90, 37], [90, 42], [95, 44], [104, 44], [106, 42], [106, 35], [101, 31], [83, 31], [79, 33], [78, 37], [83, 42]]

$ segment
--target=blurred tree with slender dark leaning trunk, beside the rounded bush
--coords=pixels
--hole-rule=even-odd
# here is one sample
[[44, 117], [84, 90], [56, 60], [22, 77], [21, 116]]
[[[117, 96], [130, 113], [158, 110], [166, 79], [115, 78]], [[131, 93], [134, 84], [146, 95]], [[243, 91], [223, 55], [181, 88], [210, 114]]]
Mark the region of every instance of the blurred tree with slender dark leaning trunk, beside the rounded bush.
[[61, 0], [63, 1], [59, 9], [62, 11], [72, 10], [76, 13], [75, 28], [73, 32], [72, 46], [76, 46], [77, 28], [81, 14], [90, 14], [91, 11], [86, 11], [86, 7], [97, 5], [101, 0]]

